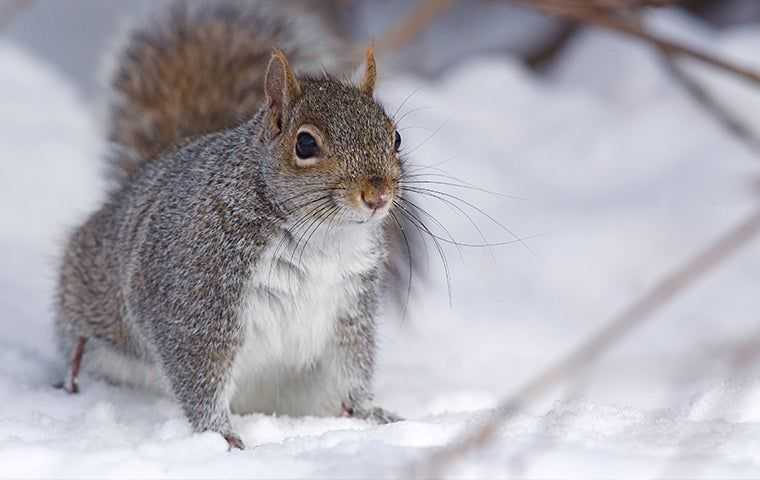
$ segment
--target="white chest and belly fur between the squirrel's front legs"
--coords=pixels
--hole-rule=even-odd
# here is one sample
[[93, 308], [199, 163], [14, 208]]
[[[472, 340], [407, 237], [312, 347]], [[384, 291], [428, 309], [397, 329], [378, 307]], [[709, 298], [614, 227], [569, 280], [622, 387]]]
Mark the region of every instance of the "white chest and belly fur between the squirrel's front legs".
[[[320, 414], [304, 389], [331, 348], [336, 320], [355, 302], [352, 283], [373, 268], [376, 231], [354, 226], [315, 234], [303, 245], [274, 241], [253, 267], [241, 320], [245, 343], [234, 366], [233, 411]], [[329, 386], [326, 386], [329, 390]]]

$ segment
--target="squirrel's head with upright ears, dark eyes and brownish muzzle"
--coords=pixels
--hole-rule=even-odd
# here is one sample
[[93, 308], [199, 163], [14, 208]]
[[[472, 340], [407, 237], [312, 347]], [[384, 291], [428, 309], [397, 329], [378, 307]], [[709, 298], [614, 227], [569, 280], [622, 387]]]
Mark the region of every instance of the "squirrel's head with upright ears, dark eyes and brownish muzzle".
[[[364, 78], [296, 78], [276, 50], [265, 80], [263, 141], [274, 152], [279, 203], [331, 223], [384, 219], [399, 195], [401, 137], [374, 98], [375, 59]], [[279, 193], [278, 193], [279, 195]]]

